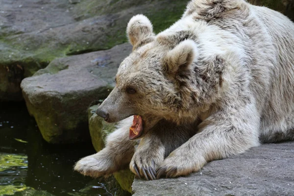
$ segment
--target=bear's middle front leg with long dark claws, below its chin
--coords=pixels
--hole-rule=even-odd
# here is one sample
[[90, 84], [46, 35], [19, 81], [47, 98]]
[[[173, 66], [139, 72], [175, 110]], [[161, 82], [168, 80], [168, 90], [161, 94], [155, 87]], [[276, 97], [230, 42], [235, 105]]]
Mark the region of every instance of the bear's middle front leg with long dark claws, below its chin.
[[158, 122], [141, 138], [131, 160], [130, 170], [147, 180], [156, 179], [156, 169], [164, 158], [196, 133], [197, 124], [178, 126], [166, 120]]

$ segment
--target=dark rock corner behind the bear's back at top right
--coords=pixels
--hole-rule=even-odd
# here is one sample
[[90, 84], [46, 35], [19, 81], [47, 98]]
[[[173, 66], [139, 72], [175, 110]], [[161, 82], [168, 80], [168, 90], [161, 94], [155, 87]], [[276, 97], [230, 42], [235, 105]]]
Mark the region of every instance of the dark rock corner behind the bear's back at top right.
[[248, 0], [248, 2], [279, 11], [294, 21], [294, 0]]

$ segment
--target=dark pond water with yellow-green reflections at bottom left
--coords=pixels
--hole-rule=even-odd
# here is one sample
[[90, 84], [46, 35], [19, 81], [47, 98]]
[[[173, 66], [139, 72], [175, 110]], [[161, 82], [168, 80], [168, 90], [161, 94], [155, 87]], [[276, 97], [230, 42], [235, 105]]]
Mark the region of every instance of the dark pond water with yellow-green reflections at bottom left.
[[24, 103], [0, 103], [0, 196], [112, 196], [115, 182], [73, 172], [74, 163], [95, 153], [91, 142], [49, 145]]

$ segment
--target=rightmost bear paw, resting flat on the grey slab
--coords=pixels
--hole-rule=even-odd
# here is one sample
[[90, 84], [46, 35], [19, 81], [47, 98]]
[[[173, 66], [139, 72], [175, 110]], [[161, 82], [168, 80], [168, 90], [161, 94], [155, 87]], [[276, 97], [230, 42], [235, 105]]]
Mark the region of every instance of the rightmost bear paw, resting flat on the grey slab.
[[[192, 156], [193, 154], [194, 156]], [[200, 153], [188, 154], [187, 151], [174, 150], [160, 164], [156, 172], [156, 179], [159, 179], [161, 176], [166, 176], [166, 178], [185, 176], [199, 171], [205, 164], [206, 160]]]

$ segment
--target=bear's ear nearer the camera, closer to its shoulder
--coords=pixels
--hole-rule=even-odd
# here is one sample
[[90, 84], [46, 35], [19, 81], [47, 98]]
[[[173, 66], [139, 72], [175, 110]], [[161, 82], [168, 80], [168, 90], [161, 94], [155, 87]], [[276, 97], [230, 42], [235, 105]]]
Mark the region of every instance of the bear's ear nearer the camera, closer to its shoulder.
[[164, 58], [164, 71], [176, 74], [180, 69], [186, 69], [195, 61], [197, 54], [198, 49], [193, 40], [180, 42], [166, 54]]

